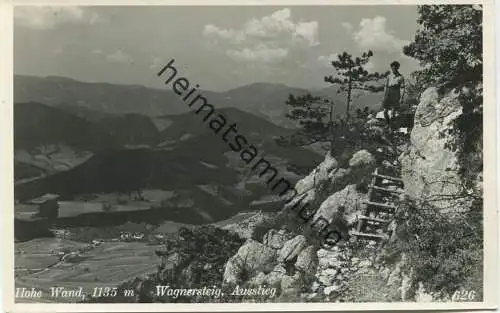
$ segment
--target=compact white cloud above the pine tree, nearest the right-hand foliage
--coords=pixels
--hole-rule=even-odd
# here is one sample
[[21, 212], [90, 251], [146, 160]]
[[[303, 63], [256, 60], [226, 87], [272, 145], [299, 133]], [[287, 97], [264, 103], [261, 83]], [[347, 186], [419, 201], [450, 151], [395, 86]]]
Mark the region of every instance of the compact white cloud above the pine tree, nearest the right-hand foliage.
[[359, 23], [359, 30], [353, 33], [354, 40], [362, 49], [401, 52], [408, 41], [399, 39], [394, 32], [388, 31], [386, 23], [387, 19], [383, 16], [362, 19]]

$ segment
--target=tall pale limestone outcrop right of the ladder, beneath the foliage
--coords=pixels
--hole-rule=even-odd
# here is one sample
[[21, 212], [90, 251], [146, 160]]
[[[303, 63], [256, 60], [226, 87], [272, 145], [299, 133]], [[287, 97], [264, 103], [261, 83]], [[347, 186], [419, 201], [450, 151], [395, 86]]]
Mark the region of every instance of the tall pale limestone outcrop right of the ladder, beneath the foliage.
[[410, 148], [401, 157], [402, 179], [410, 198], [431, 203], [442, 210], [463, 210], [462, 180], [455, 152], [445, 145], [451, 135], [445, 130], [462, 114], [458, 94], [440, 99], [436, 88], [428, 88], [420, 98], [411, 132]]

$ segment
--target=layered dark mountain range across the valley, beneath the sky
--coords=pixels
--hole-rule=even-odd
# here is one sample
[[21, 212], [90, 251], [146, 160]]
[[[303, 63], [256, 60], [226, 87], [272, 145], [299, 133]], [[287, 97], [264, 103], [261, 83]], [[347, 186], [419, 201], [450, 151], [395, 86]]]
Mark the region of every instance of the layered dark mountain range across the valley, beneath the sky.
[[[276, 143], [294, 132], [285, 100], [306, 92], [257, 83], [203, 94], [282, 177], [295, 183], [302, 175], [298, 169], [307, 172], [323, 159], [304, 147]], [[340, 99], [331, 88], [319, 93]], [[96, 194], [173, 191], [179, 201], [192, 202], [169, 211], [169, 220], [184, 223], [216, 222], [249, 210], [251, 203], [269, 208], [263, 199], [273, 195], [258, 173], [171, 90], [16, 75], [14, 99], [19, 201], [45, 193], [72, 201]], [[373, 102], [373, 97], [363, 99]]]

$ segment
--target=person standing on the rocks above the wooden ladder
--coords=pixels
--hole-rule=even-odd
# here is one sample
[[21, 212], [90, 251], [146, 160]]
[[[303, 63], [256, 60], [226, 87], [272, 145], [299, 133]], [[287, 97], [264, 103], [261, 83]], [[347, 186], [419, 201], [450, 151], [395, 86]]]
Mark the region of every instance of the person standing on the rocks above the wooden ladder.
[[[403, 75], [399, 73], [399, 62], [394, 61], [391, 63], [391, 72], [387, 76], [384, 88], [384, 100], [382, 107], [384, 109], [384, 117], [387, 122], [387, 127], [394, 127], [394, 117], [396, 111], [399, 110], [399, 105], [403, 102], [405, 80]], [[389, 116], [391, 110], [391, 116]]]

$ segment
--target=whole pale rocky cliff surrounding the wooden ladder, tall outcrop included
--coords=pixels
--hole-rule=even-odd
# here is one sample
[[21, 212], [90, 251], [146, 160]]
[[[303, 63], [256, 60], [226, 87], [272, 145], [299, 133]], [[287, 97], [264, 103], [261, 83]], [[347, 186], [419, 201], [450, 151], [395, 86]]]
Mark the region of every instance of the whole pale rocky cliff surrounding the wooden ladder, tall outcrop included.
[[[342, 230], [343, 240], [324, 249], [300, 231], [279, 223], [270, 225], [263, 236], [247, 240], [229, 259], [224, 283], [276, 287], [280, 292], [274, 301], [449, 300], [426, 292], [426, 282], [414, 273], [415, 260], [409, 260], [406, 253], [390, 245], [377, 250], [374, 241], [352, 240], [349, 234], [367, 199], [366, 179], [375, 167], [401, 166], [401, 203], [411, 199], [430, 204], [441, 213], [450, 209], [460, 213], [470, 207], [470, 200], [463, 195], [471, 191], [464, 189], [459, 174], [463, 164], [447, 144], [453, 139], [447, 130], [461, 114], [457, 94], [440, 96], [437, 89], [429, 88], [421, 95], [409, 138], [387, 134], [379, 121], [370, 117], [367, 130], [385, 137], [381, 142], [387, 144], [371, 151], [361, 149], [348, 162], [327, 154], [296, 184], [298, 196], [284, 207], [284, 211], [293, 210], [298, 202], [314, 207], [312, 220], [322, 217], [335, 225]], [[348, 165], [342, 167], [341, 163]], [[481, 175], [476, 176], [475, 186], [480, 188]], [[398, 227], [396, 223], [391, 226], [393, 230]], [[399, 239], [393, 237], [389, 242], [395, 240]]]

